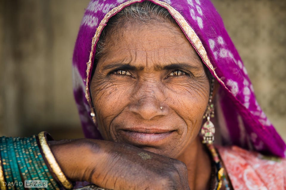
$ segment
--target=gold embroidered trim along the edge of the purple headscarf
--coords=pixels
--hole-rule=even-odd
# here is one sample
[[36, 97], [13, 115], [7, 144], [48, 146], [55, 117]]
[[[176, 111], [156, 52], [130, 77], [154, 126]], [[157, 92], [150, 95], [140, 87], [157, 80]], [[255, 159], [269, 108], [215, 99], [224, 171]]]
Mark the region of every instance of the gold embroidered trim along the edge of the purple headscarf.
[[[100, 22], [96, 33], [94, 35], [94, 37], [92, 38], [92, 45], [91, 45], [91, 52], [89, 55], [89, 61], [87, 63], [87, 69], [86, 69], [86, 75], [87, 75], [87, 79], [86, 79], [86, 99], [91, 107], [91, 102], [90, 102], [90, 97], [89, 97], [89, 88], [88, 88], [88, 83], [89, 83], [89, 73], [90, 73], [90, 69], [91, 69], [91, 59], [93, 56], [93, 51], [94, 51], [94, 47], [95, 47], [95, 42], [97, 41], [97, 39], [100, 36], [100, 33], [103, 29], [103, 27], [105, 26], [105, 24], [107, 23], [108, 19], [114, 15], [116, 12], [120, 11], [123, 7], [128, 6], [131, 3], [135, 3], [135, 2], [139, 2], [140, 0], [130, 0], [127, 1], [123, 4], [120, 4], [119, 6], [113, 8], [111, 11], [109, 11], [105, 17], [102, 19], [102, 21]], [[187, 21], [185, 20], [185, 18], [176, 10], [174, 9], [170, 4], [167, 4], [166, 2], [163, 1], [158, 1], [158, 0], [152, 0], [154, 3], [161, 5], [162, 7], [165, 7], [166, 9], [168, 9], [168, 11], [171, 13], [171, 15], [175, 18], [175, 20], [179, 23], [181, 29], [185, 32], [185, 34], [187, 35], [187, 37], [189, 38], [189, 40], [192, 42], [192, 44], [195, 46], [194, 48], [197, 50], [197, 52], [200, 54], [200, 57], [203, 59], [203, 62], [209, 67], [209, 69], [212, 70], [212, 72], [215, 75], [215, 78], [226, 88], [226, 85], [224, 84], [224, 82], [217, 76], [216, 72], [215, 72], [215, 68], [213, 67], [213, 65], [211, 64], [211, 61], [209, 60], [209, 57], [206, 53], [206, 49], [203, 47], [203, 43], [200, 41], [198, 35], [195, 33], [195, 31], [192, 29], [191, 26], [189, 26], [189, 24], [187, 23]], [[93, 110], [91, 109], [91, 113], [93, 113]], [[92, 116], [92, 118], [94, 118], [95, 116]]]

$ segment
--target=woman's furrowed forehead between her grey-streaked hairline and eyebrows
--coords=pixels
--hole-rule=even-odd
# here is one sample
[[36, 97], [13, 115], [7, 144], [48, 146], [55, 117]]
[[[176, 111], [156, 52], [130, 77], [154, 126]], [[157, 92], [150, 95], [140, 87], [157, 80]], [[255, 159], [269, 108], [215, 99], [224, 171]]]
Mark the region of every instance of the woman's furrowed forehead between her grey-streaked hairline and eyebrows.
[[124, 27], [111, 28], [116, 32], [105, 33], [104, 42], [100, 40], [97, 44], [97, 50], [102, 50], [97, 52], [93, 70], [98, 71], [114, 63], [125, 63], [148, 71], [162, 70], [159, 68], [174, 63], [188, 63], [193, 68], [203, 69], [200, 57], [179, 26], [170, 21], [157, 22], [156, 26], [152, 24], [132, 20]]

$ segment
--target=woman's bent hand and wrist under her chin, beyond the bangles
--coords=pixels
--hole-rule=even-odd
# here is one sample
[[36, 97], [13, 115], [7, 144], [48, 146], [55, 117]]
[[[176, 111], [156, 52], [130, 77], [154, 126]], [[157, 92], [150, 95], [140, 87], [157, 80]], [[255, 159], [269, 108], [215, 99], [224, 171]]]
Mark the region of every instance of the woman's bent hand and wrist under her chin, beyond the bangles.
[[51, 141], [52, 152], [72, 181], [107, 189], [189, 189], [183, 162], [132, 145], [105, 140]]

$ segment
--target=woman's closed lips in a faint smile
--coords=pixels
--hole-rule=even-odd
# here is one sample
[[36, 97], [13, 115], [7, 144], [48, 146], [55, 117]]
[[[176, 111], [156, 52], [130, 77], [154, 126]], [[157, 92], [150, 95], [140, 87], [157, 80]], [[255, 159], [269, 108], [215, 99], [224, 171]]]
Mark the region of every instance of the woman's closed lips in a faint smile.
[[120, 130], [120, 137], [126, 143], [138, 146], [158, 146], [167, 142], [175, 130], [165, 129], [124, 129]]

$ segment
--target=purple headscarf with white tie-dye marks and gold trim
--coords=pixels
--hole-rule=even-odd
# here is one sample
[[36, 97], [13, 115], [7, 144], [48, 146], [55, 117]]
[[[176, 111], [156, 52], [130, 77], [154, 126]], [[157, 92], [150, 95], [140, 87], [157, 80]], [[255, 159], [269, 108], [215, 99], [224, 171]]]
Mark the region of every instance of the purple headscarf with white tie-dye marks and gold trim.
[[[101, 139], [91, 109], [89, 84], [96, 43], [109, 18], [143, 0], [92, 0], [86, 9], [73, 56], [74, 97], [87, 138]], [[286, 145], [258, 105], [253, 86], [223, 21], [209, 0], [151, 0], [176, 20], [202, 61], [220, 83], [216, 113], [223, 145], [285, 157]], [[219, 129], [218, 129], [219, 128]]]

